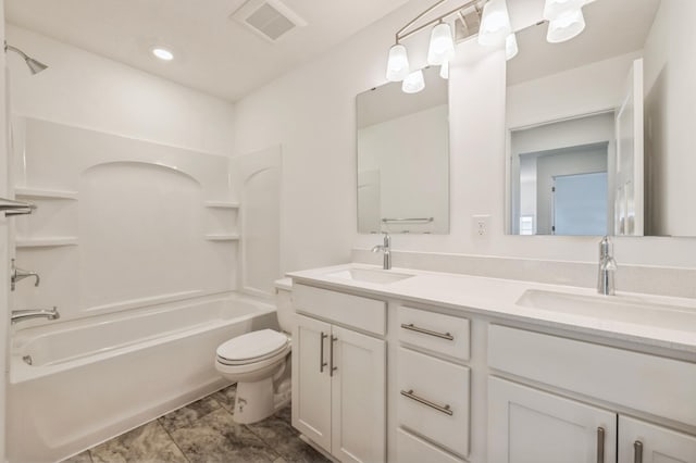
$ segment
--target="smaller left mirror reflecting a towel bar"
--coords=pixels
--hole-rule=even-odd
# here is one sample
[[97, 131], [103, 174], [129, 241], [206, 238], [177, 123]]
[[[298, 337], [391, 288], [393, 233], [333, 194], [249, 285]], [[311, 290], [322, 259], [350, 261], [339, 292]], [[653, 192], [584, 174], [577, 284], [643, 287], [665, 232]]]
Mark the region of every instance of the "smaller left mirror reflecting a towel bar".
[[389, 83], [358, 95], [358, 232], [449, 233], [447, 80]]

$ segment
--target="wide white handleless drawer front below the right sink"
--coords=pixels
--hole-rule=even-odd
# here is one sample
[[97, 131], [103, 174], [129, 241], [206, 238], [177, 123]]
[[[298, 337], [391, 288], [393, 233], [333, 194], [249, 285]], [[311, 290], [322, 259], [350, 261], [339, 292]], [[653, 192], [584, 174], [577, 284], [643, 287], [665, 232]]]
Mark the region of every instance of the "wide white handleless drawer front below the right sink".
[[696, 426], [696, 364], [492, 325], [488, 364], [611, 403]]

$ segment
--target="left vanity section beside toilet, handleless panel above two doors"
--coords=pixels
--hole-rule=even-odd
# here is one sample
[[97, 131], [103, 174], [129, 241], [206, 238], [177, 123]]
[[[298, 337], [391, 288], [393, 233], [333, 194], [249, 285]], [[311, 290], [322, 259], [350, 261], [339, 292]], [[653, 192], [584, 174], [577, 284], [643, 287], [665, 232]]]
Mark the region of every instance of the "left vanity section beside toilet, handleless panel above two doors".
[[293, 425], [341, 462], [385, 461], [386, 342], [338, 326], [363, 311], [362, 330], [384, 330], [385, 303], [297, 284], [293, 297], [313, 315], [293, 338]]

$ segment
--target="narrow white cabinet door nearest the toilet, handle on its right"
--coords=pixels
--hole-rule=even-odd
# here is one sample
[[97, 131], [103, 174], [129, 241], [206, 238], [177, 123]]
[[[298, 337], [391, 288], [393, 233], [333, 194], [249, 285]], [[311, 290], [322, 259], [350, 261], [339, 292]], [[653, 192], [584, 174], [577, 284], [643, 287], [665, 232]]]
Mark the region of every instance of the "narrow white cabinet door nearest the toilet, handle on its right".
[[331, 325], [297, 316], [293, 336], [293, 426], [331, 450]]

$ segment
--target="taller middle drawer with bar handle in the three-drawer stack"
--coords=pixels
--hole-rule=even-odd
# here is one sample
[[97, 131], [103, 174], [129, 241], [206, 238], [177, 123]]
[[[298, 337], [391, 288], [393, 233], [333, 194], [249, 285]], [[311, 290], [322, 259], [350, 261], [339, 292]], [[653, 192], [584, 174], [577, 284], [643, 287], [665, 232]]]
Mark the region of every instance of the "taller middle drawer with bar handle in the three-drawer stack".
[[397, 387], [399, 425], [469, 453], [469, 368], [399, 348]]

